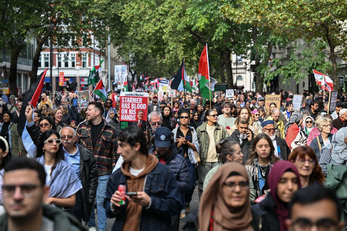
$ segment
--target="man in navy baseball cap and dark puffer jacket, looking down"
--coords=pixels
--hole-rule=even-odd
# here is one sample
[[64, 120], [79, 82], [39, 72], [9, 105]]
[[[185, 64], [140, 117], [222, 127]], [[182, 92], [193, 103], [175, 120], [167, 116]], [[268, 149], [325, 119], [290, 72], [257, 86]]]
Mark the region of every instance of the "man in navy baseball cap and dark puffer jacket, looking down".
[[[184, 194], [189, 191], [189, 170], [188, 164], [181, 156], [175, 146], [172, 132], [167, 127], [158, 127], [154, 132], [154, 145], [150, 153], [158, 157], [159, 162], [168, 166], [174, 173], [177, 180], [178, 188], [181, 193], [181, 201], [184, 201]], [[189, 158], [189, 157], [187, 157]], [[184, 205], [182, 204], [182, 208]], [[182, 214], [181, 214], [182, 217]], [[180, 216], [171, 217], [171, 230], [178, 231]], [[183, 217], [182, 217], [183, 218]]]

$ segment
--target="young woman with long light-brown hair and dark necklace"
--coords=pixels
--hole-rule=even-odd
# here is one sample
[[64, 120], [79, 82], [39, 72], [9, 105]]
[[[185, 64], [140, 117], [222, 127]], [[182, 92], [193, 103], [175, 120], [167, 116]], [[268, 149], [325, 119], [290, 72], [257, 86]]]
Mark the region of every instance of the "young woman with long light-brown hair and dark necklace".
[[249, 151], [249, 160], [245, 168], [252, 177], [255, 198], [265, 194], [269, 189], [268, 176], [273, 164], [280, 159], [274, 154], [274, 147], [270, 136], [266, 133], [257, 135]]

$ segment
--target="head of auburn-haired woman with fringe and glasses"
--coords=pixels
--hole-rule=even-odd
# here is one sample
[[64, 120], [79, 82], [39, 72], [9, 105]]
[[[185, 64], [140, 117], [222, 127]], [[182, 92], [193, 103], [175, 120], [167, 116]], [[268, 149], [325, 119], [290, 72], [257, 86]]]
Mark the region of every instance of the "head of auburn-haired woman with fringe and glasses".
[[323, 185], [325, 178], [321, 167], [318, 165], [316, 154], [307, 146], [300, 146], [293, 150], [288, 161], [294, 163], [300, 175], [303, 188], [308, 185]]

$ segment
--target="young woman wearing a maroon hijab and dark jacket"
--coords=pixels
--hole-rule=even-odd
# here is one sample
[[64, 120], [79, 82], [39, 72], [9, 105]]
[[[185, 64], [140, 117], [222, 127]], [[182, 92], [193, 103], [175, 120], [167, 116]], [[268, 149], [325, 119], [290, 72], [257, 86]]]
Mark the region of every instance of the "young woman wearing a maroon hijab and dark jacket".
[[252, 227], [254, 231], [287, 231], [287, 205], [301, 188], [299, 172], [292, 162], [278, 161], [271, 168], [268, 185], [270, 193], [262, 202], [252, 206]]

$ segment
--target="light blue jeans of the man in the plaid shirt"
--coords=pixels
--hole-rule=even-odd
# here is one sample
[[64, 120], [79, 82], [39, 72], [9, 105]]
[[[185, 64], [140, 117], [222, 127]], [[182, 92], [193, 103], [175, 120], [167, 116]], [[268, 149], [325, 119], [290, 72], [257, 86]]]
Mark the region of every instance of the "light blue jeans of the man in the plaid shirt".
[[[106, 187], [107, 181], [110, 178], [111, 174], [99, 176], [98, 179], [98, 188], [96, 189], [96, 207], [98, 208], [98, 230], [106, 230], [106, 212], [103, 206], [104, 199], [106, 197]], [[88, 226], [93, 227], [95, 224], [95, 214], [94, 214], [94, 205], [92, 206], [92, 212], [90, 214], [90, 219], [88, 221]]]

